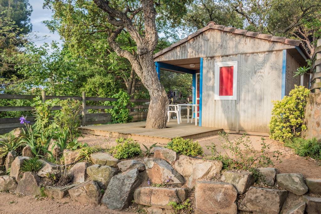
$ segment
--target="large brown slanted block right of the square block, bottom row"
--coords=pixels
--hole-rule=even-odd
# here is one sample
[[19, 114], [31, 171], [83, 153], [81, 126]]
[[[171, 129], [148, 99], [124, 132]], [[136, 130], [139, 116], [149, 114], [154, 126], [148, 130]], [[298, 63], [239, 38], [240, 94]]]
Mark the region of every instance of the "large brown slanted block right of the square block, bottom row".
[[259, 187], [250, 187], [239, 210], [260, 214], [279, 214], [288, 192]]

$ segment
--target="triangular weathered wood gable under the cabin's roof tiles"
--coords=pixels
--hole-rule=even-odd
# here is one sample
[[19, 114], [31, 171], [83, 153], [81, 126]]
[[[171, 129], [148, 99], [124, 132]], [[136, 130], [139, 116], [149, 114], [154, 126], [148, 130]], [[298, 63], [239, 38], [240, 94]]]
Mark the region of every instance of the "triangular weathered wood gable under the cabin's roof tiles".
[[209, 29], [155, 57], [154, 61], [254, 53], [288, 48], [295, 48], [295, 46], [222, 30]]

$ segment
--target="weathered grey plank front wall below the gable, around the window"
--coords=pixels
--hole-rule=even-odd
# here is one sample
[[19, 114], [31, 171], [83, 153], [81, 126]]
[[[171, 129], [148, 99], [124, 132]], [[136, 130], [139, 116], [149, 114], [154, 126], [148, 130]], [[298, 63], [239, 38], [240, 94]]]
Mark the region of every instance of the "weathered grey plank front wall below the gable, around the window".
[[[215, 63], [238, 61], [237, 100], [214, 100]], [[203, 58], [202, 126], [268, 133], [282, 90], [282, 50]]]

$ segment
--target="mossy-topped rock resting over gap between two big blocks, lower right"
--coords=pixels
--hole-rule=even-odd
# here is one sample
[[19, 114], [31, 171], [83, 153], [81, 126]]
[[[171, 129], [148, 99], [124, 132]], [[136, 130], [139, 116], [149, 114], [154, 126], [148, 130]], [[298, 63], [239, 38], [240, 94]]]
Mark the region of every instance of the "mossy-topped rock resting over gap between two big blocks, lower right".
[[243, 194], [250, 186], [252, 186], [252, 184], [255, 182], [255, 178], [252, 176], [251, 172], [247, 171], [226, 171], [223, 172], [221, 181], [232, 184], [239, 194]]

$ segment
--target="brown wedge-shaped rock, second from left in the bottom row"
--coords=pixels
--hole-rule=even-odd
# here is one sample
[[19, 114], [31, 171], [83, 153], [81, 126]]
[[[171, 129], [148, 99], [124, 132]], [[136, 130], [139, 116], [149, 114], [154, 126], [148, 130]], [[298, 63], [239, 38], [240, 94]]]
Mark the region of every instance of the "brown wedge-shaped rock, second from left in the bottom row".
[[39, 183], [40, 178], [38, 175], [32, 172], [25, 172], [22, 179], [18, 182], [16, 192], [26, 195], [39, 195]]

